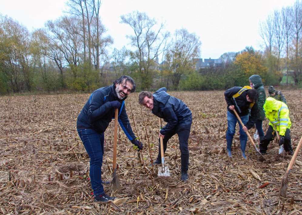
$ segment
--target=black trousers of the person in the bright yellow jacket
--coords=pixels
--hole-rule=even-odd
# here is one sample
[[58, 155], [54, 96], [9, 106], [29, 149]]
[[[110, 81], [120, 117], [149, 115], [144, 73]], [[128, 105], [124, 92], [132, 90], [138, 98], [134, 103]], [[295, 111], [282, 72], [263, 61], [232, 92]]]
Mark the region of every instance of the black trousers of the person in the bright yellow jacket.
[[[261, 153], [265, 153], [267, 151], [268, 144], [274, 140], [275, 136], [276, 136], [276, 132], [274, 131], [273, 127], [271, 125], [269, 125], [265, 136], [260, 141], [259, 148], [260, 148]], [[290, 129], [286, 129], [286, 132], [284, 135], [283, 147], [286, 152], [293, 151], [293, 148], [291, 147]]]

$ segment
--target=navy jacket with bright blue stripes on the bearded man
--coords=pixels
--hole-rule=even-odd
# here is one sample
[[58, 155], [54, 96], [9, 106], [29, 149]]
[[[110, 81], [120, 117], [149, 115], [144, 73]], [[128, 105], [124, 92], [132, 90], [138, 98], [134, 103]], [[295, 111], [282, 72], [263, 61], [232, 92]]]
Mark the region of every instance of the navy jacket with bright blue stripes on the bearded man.
[[105, 132], [109, 122], [114, 119], [114, 109], [110, 102], [119, 101], [121, 103], [118, 117], [119, 124], [130, 141], [135, 139], [125, 109], [125, 99], [126, 97], [122, 100], [117, 97], [113, 84], [95, 90], [78, 116], [77, 129], [93, 129], [98, 133]]

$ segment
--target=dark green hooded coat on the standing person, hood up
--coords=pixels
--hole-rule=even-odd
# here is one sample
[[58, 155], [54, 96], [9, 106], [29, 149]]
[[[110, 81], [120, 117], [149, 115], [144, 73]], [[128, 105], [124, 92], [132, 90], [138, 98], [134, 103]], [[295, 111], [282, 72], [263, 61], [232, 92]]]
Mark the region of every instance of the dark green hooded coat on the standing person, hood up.
[[263, 110], [263, 105], [266, 99], [266, 94], [262, 79], [259, 75], [252, 75], [249, 80], [253, 83], [254, 89], [258, 91], [258, 120], [264, 120], [265, 113]]

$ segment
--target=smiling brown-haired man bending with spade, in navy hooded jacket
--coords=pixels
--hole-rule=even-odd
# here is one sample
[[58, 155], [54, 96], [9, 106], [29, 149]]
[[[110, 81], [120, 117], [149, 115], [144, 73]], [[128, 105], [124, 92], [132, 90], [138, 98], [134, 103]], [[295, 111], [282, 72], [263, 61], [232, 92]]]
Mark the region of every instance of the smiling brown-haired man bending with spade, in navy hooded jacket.
[[[186, 181], [189, 178], [187, 173], [189, 169], [189, 148], [188, 139], [192, 124], [192, 112], [186, 104], [166, 92], [166, 88], [162, 87], [155, 93], [148, 91], [139, 93], [139, 104], [152, 110], [155, 116], [163, 118], [167, 124], [159, 132], [163, 137], [164, 153], [167, 148], [168, 140], [175, 134], [178, 135], [179, 148], [181, 153], [181, 180]], [[159, 152], [153, 165], [161, 164], [161, 151], [159, 144]]]

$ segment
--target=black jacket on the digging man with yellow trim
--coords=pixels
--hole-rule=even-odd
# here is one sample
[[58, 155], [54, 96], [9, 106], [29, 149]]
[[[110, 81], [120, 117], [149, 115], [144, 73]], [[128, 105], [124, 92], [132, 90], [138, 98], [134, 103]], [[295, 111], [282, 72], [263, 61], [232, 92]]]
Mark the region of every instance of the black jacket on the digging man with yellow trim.
[[[238, 108], [236, 107], [236, 104], [234, 102], [233, 99], [233, 95], [235, 95], [242, 87], [240, 86], [234, 86], [228, 90], [226, 90], [224, 92], [224, 98], [227, 101], [227, 110], [235, 115], [234, 111], [232, 111], [229, 106], [234, 105], [235, 109], [238, 113], [239, 116], [245, 116], [249, 114], [249, 106], [250, 106], [250, 102], [247, 101], [247, 91], [245, 90], [243, 91], [243, 93], [238, 96], [236, 98], [236, 103], [239, 106], [241, 113], [239, 113]], [[255, 104], [253, 105], [253, 107], [250, 110], [250, 117], [249, 117], [249, 121], [247, 122], [247, 124], [245, 125], [247, 127], [247, 129], [250, 129], [256, 122], [258, 118], [258, 105], [257, 105], [257, 101], [255, 102]]]

